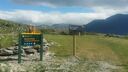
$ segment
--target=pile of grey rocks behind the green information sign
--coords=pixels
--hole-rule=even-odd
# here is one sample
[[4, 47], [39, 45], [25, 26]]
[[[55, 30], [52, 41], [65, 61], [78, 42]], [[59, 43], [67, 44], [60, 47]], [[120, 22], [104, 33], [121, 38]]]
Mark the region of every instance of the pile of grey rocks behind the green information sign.
[[[47, 52], [49, 49], [50, 43], [47, 42], [46, 39], [43, 39], [43, 51]], [[26, 54], [35, 54], [40, 52], [40, 45], [37, 46], [23, 46], [22, 55]], [[8, 48], [0, 49], [0, 56], [10, 56], [10, 55], [18, 55], [18, 44]]]

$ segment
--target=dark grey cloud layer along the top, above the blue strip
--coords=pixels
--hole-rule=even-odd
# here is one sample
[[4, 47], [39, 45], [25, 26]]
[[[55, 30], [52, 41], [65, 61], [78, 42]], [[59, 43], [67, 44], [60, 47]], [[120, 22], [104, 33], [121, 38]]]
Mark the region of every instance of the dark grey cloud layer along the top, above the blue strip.
[[12, 0], [15, 3], [58, 6], [82, 6], [82, 7], [113, 7], [122, 8], [128, 6], [128, 0]]

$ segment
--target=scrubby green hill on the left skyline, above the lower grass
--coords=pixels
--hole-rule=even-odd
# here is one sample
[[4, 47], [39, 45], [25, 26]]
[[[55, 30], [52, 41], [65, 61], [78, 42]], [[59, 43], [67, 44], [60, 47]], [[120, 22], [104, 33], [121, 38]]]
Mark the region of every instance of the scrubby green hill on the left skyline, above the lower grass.
[[26, 31], [27, 25], [0, 19], [0, 33], [18, 33]]

